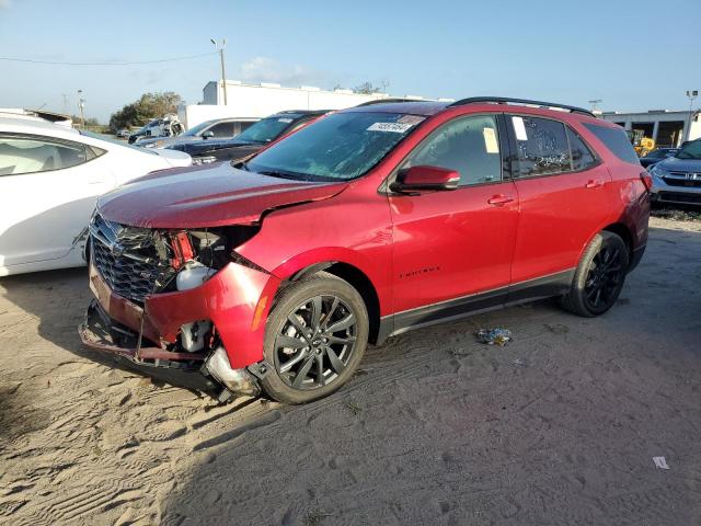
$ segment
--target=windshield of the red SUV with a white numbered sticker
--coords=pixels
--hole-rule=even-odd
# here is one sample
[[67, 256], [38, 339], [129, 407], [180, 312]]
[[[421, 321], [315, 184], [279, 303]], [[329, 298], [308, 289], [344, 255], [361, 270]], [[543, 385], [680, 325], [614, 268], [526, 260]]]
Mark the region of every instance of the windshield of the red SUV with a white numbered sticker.
[[399, 113], [336, 113], [261, 152], [245, 168], [312, 181], [358, 178], [424, 118]]

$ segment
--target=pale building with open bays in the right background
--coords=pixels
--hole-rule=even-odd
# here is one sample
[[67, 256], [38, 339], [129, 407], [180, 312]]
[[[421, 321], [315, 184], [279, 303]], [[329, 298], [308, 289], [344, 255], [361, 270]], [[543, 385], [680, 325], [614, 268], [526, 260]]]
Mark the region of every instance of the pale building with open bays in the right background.
[[657, 146], [676, 147], [685, 140], [701, 137], [701, 119], [698, 110], [673, 112], [650, 110], [641, 113], [604, 112], [601, 117], [623, 126], [627, 130], [642, 129], [645, 137], [655, 139]]

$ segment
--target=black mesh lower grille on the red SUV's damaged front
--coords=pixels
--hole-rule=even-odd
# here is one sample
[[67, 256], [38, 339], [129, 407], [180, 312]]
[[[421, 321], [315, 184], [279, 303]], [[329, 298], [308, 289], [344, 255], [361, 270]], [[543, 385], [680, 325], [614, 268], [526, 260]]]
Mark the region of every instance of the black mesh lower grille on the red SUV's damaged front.
[[156, 264], [116, 255], [95, 237], [92, 238], [92, 254], [97, 272], [115, 294], [141, 305], [153, 293], [159, 276]]

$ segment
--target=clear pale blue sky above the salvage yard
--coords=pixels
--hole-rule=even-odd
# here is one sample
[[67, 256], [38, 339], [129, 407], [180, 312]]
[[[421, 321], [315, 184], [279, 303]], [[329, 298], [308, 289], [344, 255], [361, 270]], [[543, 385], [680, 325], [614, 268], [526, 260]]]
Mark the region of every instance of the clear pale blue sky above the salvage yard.
[[[701, 2], [0, 0], [0, 107], [110, 115], [141, 93], [187, 103], [220, 78], [387, 83], [393, 95], [503, 95], [605, 111], [689, 107], [701, 90]], [[115, 62], [197, 58], [150, 65]], [[64, 96], [66, 95], [66, 96]], [[697, 100], [694, 107], [699, 107]]]

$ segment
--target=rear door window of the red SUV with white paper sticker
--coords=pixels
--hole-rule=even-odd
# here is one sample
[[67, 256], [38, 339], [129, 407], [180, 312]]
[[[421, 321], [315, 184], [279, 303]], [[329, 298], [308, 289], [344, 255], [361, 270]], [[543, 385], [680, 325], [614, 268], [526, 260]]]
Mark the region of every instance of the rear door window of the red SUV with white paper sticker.
[[521, 176], [572, 170], [565, 125], [549, 118], [512, 116]]

